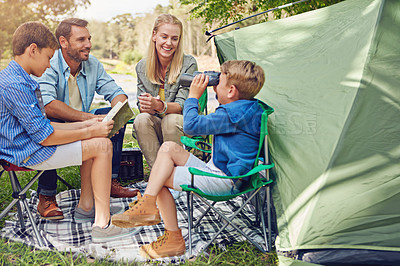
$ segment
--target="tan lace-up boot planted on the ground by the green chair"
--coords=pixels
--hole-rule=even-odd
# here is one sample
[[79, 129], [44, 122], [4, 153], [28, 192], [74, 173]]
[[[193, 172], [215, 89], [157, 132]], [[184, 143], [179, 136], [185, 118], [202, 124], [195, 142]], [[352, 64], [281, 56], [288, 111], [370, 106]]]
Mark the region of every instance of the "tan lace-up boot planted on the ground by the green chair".
[[139, 249], [140, 255], [149, 259], [180, 256], [185, 254], [185, 251], [185, 240], [183, 240], [181, 229], [178, 231], [165, 230], [164, 235], [158, 237], [157, 241], [143, 245]]

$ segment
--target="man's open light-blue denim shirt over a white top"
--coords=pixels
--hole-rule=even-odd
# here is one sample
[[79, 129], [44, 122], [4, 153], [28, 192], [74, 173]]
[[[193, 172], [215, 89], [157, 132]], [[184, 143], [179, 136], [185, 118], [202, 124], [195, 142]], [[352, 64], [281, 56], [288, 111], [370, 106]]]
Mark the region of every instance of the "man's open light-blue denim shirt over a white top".
[[[50, 60], [51, 67], [37, 79], [43, 96], [44, 105], [53, 100], [59, 100], [69, 105], [68, 79], [70, 67], [62, 55], [61, 49], [54, 53]], [[89, 112], [95, 92], [104, 96], [104, 100], [111, 102], [115, 96], [125, 92], [113, 78], [107, 74], [103, 65], [92, 55], [89, 60], [81, 63], [81, 70], [76, 77], [79, 92], [82, 98], [83, 112]]]

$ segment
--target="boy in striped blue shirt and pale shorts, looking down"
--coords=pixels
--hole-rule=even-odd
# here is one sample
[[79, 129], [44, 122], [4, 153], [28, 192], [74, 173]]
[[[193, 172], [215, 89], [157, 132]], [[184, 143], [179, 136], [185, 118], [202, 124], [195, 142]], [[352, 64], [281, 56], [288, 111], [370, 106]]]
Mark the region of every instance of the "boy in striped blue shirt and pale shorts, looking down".
[[112, 144], [107, 135], [114, 122], [50, 122], [39, 84], [30, 75], [40, 77], [50, 67], [57, 40], [42, 23], [27, 22], [12, 43], [14, 60], [0, 71], [0, 159], [34, 170], [82, 165], [75, 213], [94, 219], [92, 241], [130, 234], [110, 224]]

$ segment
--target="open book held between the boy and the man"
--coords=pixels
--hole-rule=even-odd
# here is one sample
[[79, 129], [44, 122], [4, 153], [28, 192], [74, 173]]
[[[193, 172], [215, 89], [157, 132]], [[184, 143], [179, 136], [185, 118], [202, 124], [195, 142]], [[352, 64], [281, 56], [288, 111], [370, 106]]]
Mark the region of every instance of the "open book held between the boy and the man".
[[118, 132], [133, 116], [132, 109], [129, 107], [128, 99], [124, 102], [118, 102], [114, 107], [108, 112], [106, 117], [103, 118], [103, 122], [114, 120], [114, 127], [108, 134], [111, 138], [115, 133]]

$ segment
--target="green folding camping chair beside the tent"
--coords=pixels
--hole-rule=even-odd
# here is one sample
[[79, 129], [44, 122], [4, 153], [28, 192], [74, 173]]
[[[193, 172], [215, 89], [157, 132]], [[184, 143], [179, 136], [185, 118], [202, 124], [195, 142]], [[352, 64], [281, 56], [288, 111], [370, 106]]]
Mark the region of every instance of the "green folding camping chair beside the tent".
[[[192, 255], [192, 228], [195, 228], [200, 224], [201, 219], [206, 215], [206, 213], [209, 210], [215, 211], [222, 219], [226, 221], [226, 224], [222, 226], [219, 231], [209, 240], [209, 242], [204, 246], [204, 250], [216, 239], [216, 237], [228, 226], [231, 225], [234, 227], [241, 235], [243, 235], [248, 241], [250, 241], [253, 245], [255, 245], [261, 252], [267, 252], [271, 250], [272, 247], [272, 239], [271, 239], [271, 203], [270, 203], [270, 185], [272, 184], [273, 180], [269, 178], [269, 171], [268, 169], [272, 168], [274, 166], [273, 163], [270, 163], [268, 160], [268, 144], [267, 144], [267, 121], [268, 121], [268, 115], [271, 114], [274, 110], [273, 108], [269, 107], [265, 103], [259, 101], [259, 104], [263, 108], [263, 113], [261, 117], [261, 131], [260, 131], [260, 141], [259, 141], [259, 147], [258, 147], [258, 152], [256, 156], [256, 160], [254, 162], [254, 168], [251, 169], [247, 174], [242, 175], [242, 176], [220, 176], [220, 175], [215, 175], [212, 173], [207, 173], [203, 172], [199, 169], [189, 167], [189, 171], [192, 174], [192, 181], [191, 185], [181, 185], [182, 190], [187, 192], [187, 213], [188, 213], [188, 236], [189, 236], [189, 255]], [[264, 148], [264, 149], [263, 149]], [[259, 158], [261, 153], [264, 151], [264, 160], [260, 164]], [[260, 175], [259, 173], [265, 171], [264, 176]], [[196, 175], [203, 175], [203, 176], [210, 176], [210, 177], [217, 177], [217, 178], [233, 178], [233, 179], [238, 179], [238, 178], [244, 178], [244, 177], [250, 177], [249, 181], [246, 182], [246, 184], [242, 185], [241, 191], [237, 194], [234, 195], [225, 195], [225, 196], [214, 196], [214, 195], [208, 195], [205, 194], [203, 191], [201, 191], [198, 188], [194, 187], [194, 178]], [[266, 187], [266, 200], [267, 204], [265, 205], [265, 202], [261, 202], [260, 199], [260, 191], [263, 187]], [[243, 205], [235, 212], [233, 213], [230, 217], [226, 217], [223, 215], [214, 205], [217, 202], [220, 201], [228, 201], [230, 199], [236, 198], [238, 196], [244, 195], [246, 193], [253, 192], [243, 203]], [[196, 195], [202, 202], [204, 202], [207, 206], [208, 209], [198, 218], [196, 221], [196, 224], [193, 225], [193, 195]], [[261, 207], [259, 210], [256, 211], [256, 219], [257, 219], [257, 214], [261, 216], [261, 222], [262, 222], [262, 231], [264, 235], [264, 242], [266, 243], [266, 249], [261, 247], [258, 243], [256, 243], [253, 239], [251, 239], [249, 236], [247, 236], [240, 228], [238, 228], [235, 224], [231, 223], [233, 218], [237, 216], [242, 209], [247, 205], [248, 202], [251, 201], [253, 197], [256, 197], [258, 205]], [[212, 203], [209, 203], [207, 200], [211, 201]], [[264, 219], [264, 212], [263, 208], [267, 207], [267, 223], [268, 223], [268, 240], [267, 240], [267, 235], [266, 235], [266, 226], [265, 226], [265, 219]]]

